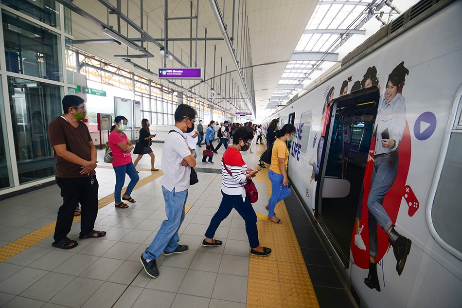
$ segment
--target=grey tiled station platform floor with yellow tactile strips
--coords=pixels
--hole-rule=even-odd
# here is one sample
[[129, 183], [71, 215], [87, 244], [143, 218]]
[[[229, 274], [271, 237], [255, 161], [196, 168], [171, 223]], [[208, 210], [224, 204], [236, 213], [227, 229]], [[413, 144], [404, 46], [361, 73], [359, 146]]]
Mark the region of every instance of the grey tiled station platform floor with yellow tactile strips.
[[[163, 143], [152, 145], [158, 168], [162, 147]], [[107, 231], [107, 236], [78, 239], [80, 217], [74, 217], [68, 237], [79, 245], [71, 250], [51, 245], [62, 204], [57, 185], [2, 200], [0, 307], [357, 307], [295, 193], [276, 206], [284, 223], [268, 221], [269, 166], [255, 178], [259, 199], [253, 207], [260, 243], [272, 254], [249, 254], [244, 220], [234, 210], [215, 235], [223, 245], [202, 247], [205, 230], [221, 202], [224, 152], [223, 147], [218, 150], [214, 164], [201, 163], [204, 148], [196, 147], [199, 182], [189, 189], [179, 230], [179, 243], [188, 245], [189, 251], [161, 256], [157, 279], [144, 272], [139, 260], [166, 218], [159, 184], [162, 171], [150, 171], [148, 155], [137, 166], [140, 181], [132, 193], [137, 202], [119, 209], [114, 207], [114, 171], [111, 164], [103, 163], [104, 150], [98, 150], [95, 230]], [[251, 149], [254, 153], [243, 158], [255, 166], [265, 145], [254, 144]], [[127, 177], [125, 186], [128, 181]]]

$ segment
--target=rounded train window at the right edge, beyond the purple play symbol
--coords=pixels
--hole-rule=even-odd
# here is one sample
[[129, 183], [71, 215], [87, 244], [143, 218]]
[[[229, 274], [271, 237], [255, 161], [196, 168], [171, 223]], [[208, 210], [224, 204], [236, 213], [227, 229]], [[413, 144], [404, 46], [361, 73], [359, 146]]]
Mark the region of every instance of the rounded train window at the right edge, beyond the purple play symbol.
[[452, 248], [462, 252], [462, 104], [459, 104], [461, 117], [456, 119], [451, 130], [449, 145], [444, 158], [443, 169], [436, 188], [431, 218], [438, 235]]

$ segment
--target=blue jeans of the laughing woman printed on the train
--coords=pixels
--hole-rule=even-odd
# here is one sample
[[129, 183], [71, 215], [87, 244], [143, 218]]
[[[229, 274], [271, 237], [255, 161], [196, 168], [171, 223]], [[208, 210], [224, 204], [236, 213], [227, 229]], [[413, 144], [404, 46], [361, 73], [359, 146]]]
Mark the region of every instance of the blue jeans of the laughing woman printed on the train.
[[[390, 216], [382, 206], [383, 197], [390, 190], [398, 173], [398, 153], [391, 152], [374, 157], [374, 166], [371, 177], [371, 191], [367, 199], [368, 227], [369, 227], [369, 254], [377, 256], [377, 224], [385, 233], [393, 224]], [[383, 252], [385, 253], [385, 252]]]

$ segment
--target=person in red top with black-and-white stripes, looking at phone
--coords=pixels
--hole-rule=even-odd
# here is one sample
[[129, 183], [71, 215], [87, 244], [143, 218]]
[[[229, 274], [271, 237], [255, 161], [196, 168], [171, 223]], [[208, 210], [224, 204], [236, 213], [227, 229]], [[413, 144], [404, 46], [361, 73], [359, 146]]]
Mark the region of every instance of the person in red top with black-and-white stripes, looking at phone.
[[248, 128], [241, 127], [236, 129], [232, 138], [232, 145], [223, 154], [221, 161], [221, 173], [223, 175], [221, 194], [223, 195], [223, 199], [205, 232], [205, 239], [202, 241], [202, 246], [216, 247], [222, 245], [223, 242], [213, 239], [213, 236], [215, 236], [216, 229], [220, 223], [230, 215], [231, 210], [234, 208], [246, 222], [250, 254], [260, 256], [271, 254], [270, 248], [260, 246], [257, 215], [243, 187], [243, 184], [250, 178], [253, 178], [258, 172], [258, 170], [247, 167], [240, 153], [240, 151], [247, 151], [249, 149], [252, 138], [253, 133]]

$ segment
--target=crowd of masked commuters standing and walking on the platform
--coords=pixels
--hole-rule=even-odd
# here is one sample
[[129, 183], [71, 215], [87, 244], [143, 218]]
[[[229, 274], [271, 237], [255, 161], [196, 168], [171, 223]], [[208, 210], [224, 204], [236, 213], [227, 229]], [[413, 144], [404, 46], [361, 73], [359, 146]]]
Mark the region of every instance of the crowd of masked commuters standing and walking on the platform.
[[[82, 122], [86, 117], [86, 106], [82, 98], [76, 95], [66, 95], [62, 100], [63, 114], [55, 118], [48, 126], [50, 143], [54, 149], [56, 160], [55, 180], [61, 189], [63, 203], [58, 209], [54, 232], [53, 246], [61, 249], [72, 249], [78, 242], [68, 237], [71, 231], [73, 216], [76, 209], [81, 206], [82, 219], [80, 223], [80, 239], [103, 237], [105, 231], [94, 230], [94, 224], [98, 212], [98, 181], [95, 168], [96, 147], [89, 134], [89, 129]], [[218, 154], [221, 146], [225, 152], [221, 159], [222, 200], [216, 213], [204, 234], [202, 246], [218, 247], [222, 241], [214, 238], [220, 223], [230, 215], [231, 210], [244, 219], [247, 237], [249, 240], [250, 254], [267, 256], [271, 249], [260, 245], [257, 229], [257, 216], [251, 205], [255, 202], [256, 189], [251, 181], [259, 170], [253, 169], [244, 161], [242, 152], [251, 151], [251, 146], [256, 136], [256, 143], [263, 145], [262, 125], [254, 125], [251, 122], [241, 125], [224, 121], [218, 124], [210, 121], [207, 127], [203, 127], [202, 120], [196, 124], [196, 111], [189, 105], [181, 104], [175, 110], [175, 124], [165, 138], [161, 156], [161, 168], [163, 176], [160, 179], [162, 194], [165, 201], [165, 219], [160, 229], [140, 256], [140, 262], [144, 271], [151, 277], [160, 275], [156, 260], [163, 255], [182, 254], [189, 250], [188, 245], [179, 243], [178, 230], [185, 218], [185, 207], [188, 199], [190, 185], [197, 182], [196, 166], [197, 152], [195, 147], [202, 147], [204, 141], [202, 163], [213, 164], [213, 154]], [[286, 124], [278, 129], [279, 120], [273, 120], [267, 127], [266, 144], [270, 152], [271, 163], [269, 166], [269, 179], [271, 181], [272, 194], [269, 199], [267, 210], [268, 220], [282, 223], [274, 213], [276, 204], [287, 197], [290, 193], [290, 183], [287, 179], [287, 142], [290, 142], [295, 133], [295, 127]], [[204, 124], [205, 125], [205, 124]], [[215, 126], [220, 125], [218, 129]], [[123, 115], [117, 115], [108, 138], [107, 151], [111, 153], [110, 159], [115, 173], [114, 206], [118, 211], [129, 207], [129, 203], [136, 203], [132, 196], [134, 187], [140, 177], [136, 165], [144, 154], [151, 158], [151, 171], [159, 169], [154, 167], [155, 156], [151, 149], [152, 139], [156, 136], [151, 134], [150, 123], [142, 119], [142, 128], [138, 142], [133, 145], [124, 131], [128, 127], [128, 120]], [[218, 145], [213, 146], [213, 141], [218, 138]], [[135, 162], [132, 162], [131, 152], [137, 154]], [[260, 161], [260, 167], [265, 164]], [[122, 192], [125, 175], [130, 181]], [[126, 203], [126, 202], [128, 203]]]

